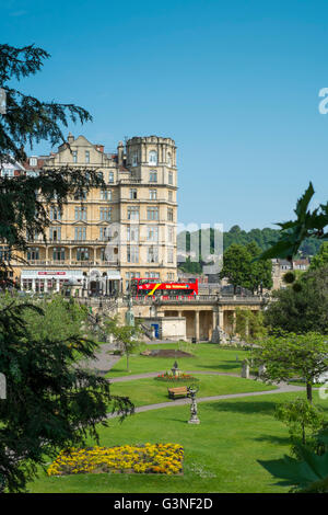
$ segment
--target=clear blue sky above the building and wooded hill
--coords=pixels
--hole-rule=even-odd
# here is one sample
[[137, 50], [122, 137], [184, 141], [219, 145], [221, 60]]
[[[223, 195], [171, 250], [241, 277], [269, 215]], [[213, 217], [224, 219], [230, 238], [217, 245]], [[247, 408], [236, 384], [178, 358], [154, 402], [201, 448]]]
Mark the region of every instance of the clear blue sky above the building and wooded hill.
[[[2, 0], [1, 42], [51, 58], [21, 89], [87, 108], [108, 151], [178, 147], [179, 221], [248, 230], [290, 219], [309, 180], [327, 201], [327, 1]], [[47, 144], [36, 151], [48, 152]]]

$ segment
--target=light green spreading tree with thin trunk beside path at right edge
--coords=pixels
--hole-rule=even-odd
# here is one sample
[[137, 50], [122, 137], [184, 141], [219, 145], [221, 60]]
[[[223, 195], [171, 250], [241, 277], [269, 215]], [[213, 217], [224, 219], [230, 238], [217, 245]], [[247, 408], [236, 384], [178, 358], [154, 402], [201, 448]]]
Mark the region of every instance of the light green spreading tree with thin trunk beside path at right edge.
[[316, 332], [269, 336], [254, 350], [254, 354], [266, 365], [261, 376], [263, 380], [280, 382], [300, 377], [306, 384], [309, 402], [313, 382], [328, 368], [328, 340]]

